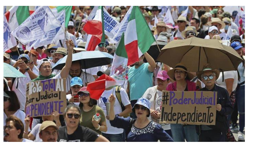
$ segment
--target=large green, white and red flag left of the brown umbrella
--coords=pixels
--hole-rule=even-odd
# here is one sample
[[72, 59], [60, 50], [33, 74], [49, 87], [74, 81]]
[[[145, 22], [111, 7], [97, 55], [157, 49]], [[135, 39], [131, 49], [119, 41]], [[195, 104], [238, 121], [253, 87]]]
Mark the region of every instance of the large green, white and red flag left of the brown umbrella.
[[[133, 6], [125, 31], [125, 49], [128, 56], [128, 66], [139, 61], [150, 48], [155, 38], [138, 6]], [[120, 27], [121, 28], [121, 27]]]

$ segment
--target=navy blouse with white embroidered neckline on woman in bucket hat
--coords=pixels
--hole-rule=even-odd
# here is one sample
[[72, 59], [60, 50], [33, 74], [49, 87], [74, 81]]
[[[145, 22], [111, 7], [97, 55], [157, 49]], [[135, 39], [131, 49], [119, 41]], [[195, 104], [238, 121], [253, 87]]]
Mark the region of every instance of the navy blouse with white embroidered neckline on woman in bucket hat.
[[[114, 120], [110, 120], [111, 126], [129, 130], [130, 117], [122, 118], [116, 116]], [[173, 139], [167, 134], [161, 125], [151, 121], [146, 127], [139, 129], [134, 125], [127, 136], [127, 142], [173, 142]]]

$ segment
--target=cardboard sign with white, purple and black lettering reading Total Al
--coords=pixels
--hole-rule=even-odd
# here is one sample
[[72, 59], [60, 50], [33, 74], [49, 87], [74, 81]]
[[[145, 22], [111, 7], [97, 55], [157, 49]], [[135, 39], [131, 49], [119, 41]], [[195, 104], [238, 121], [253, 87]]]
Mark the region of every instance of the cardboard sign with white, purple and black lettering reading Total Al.
[[66, 108], [66, 79], [47, 79], [27, 83], [25, 113], [30, 117], [50, 116]]

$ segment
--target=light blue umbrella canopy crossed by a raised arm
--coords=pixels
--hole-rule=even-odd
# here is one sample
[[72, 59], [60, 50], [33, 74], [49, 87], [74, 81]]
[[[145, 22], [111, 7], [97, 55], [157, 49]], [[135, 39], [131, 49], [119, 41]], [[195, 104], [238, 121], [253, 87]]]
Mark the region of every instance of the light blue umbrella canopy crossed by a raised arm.
[[[61, 58], [53, 67], [53, 69], [61, 70], [66, 63], [67, 56]], [[81, 69], [88, 69], [97, 66], [111, 64], [113, 56], [101, 51], [82, 51], [73, 54], [72, 61], [80, 60]]]

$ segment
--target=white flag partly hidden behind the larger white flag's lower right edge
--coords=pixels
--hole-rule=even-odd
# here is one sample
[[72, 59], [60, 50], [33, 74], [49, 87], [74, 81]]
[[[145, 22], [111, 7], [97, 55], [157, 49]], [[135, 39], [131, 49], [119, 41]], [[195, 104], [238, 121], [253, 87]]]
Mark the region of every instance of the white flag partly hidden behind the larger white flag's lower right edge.
[[[65, 10], [62, 10], [57, 15], [57, 19], [60, 22], [61, 27], [64, 30], [65, 30], [65, 12], [66, 12]], [[40, 47], [40, 46], [43, 46], [43, 45], [48, 45], [54, 40], [65, 39], [65, 32], [63, 31], [63, 29], [61, 27], [59, 26], [55, 29], [51, 29], [51, 30], [46, 32], [46, 34], [44, 35], [43, 38], [37, 39], [37, 40], [34, 40], [34, 41], [31, 41], [31, 42], [27, 43], [26, 49], [31, 50], [32, 47], [37, 48], [37, 47]]]

